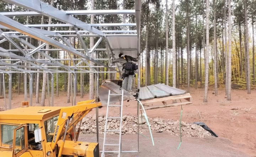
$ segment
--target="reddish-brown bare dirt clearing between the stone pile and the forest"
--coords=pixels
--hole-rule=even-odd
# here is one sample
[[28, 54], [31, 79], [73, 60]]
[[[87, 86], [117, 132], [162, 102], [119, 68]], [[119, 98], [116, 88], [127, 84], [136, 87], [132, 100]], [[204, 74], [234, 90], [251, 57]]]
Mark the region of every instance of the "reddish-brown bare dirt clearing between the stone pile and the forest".
[[[217, 144], [221, 144], [222, 141], [225, 141], [223, 142], [223, 144], [227, 144], [226, 147], [223, 147], [220, 150], [227, 149], [228, 151], [228, 147], [232, 146], [232, 150], [241, 151], [249, 156], [256, 156], [256, 91], [252, 90], [251, 94], [247, 94], [247, 91], [232, 90], [232, 101], [226, 101], [224, 90], [219, 90], [218, 96], [214, 96], [212, 92], [213, 91], [210, 90], [208, 93], [208, 103], [203, 103], [204, 89], [192, 88], [190, 94], [192, 95], [193, 104], [182, 106], [182, 121], [201, 121], [206, 123], [208, 127], [210, 127], [217, 135], [219, 135]], [[23, 95], [17, 95], [16, 93], [14, 93], [12, 107], [19, 107], [20, 101], [22, 100], [24, 100]], [[77, 96], [76, 100], [88, 100], [88, 95], [85, 95], [84, 98], [80, 98], [80, 96]], [[3, 106], [4, 99], [0, 99], [0, 102], [1, 106]], [[33, 105], [39, 105], [35, 103], [35, 98], [33, 98], [33, 102]], [[69, 105], [71, 105], [71, 103], [66, 103], [65, 93], [60, 93], [60, 97], [54, 98], [54, 106]], [[123, 115], [137, 115], [136, 101], [126, 102], [124, 103], [124, 105], [125, 106], [123, 109]], [[48, 106], [48, 99], [46, 99], [46, 106]], [[106, 107], [102, 107], [101, 109], [99, 109], [99, 112], [100, 114], [106, 114]], [[116, 112], [118, 111], [112, 111], [111, 114], [114, 114]], [[172, 120], [179, 120], [180, 112], [180, 106], [146, 111], [147, 115], [151, 118], [159, 117]], [[200, 118], [198, 112], [200, 112], [202, 119]], [[94, 110], [90, 112], [90, 115], [92, 114], [95, 114]], [[157, 136], [159, 137], [159, 139], [162, 139], [165, 138], [167, 135], [166, 133], [159, 133], [157, 134]], [[176, 139], [178, 144], [179, 138], [177, 136], [172, 136], [172, 138]], [[191, 144], [195, 144], [195, 142], [193, 142], [194, 138], [184, 139], [188, 140], [188, 142], [191, 142]], [[195, 141], [198, 141], [198, 143], [202, 143], [203, 145], [207, 144], [208, 142], [207, 139], [195, 139]], [[220, 147], [216, 147], [216, 149], [217, 148]], [[143, 150], [143, 148], [141, 147], [140, 150]], [[215, 153], [214, 150], [212, 152]], [[201, 155], [204, 156], [203, 154]], [[225, 156], [225, 154], [220, 153], [220, 156]], [[227, 156], [232, 156], [232, 153]], [[233, 154], [233, 156], [236, 155]]]

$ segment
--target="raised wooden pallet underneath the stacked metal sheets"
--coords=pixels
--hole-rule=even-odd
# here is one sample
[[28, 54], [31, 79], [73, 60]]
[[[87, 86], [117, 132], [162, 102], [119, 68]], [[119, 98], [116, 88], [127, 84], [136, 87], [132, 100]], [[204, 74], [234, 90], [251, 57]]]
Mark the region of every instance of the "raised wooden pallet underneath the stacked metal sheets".
[[[177, 100], [181, 101], [181, 102], [175, 103], [175, 102], [177, 102]], [[182, 102], [182, 100], [183, 101], [186, 100], [186, 101]], [[190, 93], [187, 93], [187, 94], [169, 96], [169, 97], [164, 97], [164, 98], [142, 100], [141, 102], [142, 102], [143, 106], [149, 106], [149, 107], [144, 107], [145, 110], [152, 110], [152, 109], [160, 109], [160, 108], [164, 108], [164, 107], [192, 104], [192, 97], [191, 97]], [[159, 103], [162, 103], [162, 105], [153, 105], [153, 104], [159, 104]], [[142, 110], [142, 109], [140, 109], [140, 110]]]

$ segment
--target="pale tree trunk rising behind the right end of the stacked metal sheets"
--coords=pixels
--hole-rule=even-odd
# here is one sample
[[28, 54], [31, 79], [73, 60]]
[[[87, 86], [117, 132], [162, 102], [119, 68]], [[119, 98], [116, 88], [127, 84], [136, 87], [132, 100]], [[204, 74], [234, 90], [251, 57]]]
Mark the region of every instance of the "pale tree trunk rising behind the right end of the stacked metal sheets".
[[176, 88], [175, 0], [172, 0], [172, 87]]

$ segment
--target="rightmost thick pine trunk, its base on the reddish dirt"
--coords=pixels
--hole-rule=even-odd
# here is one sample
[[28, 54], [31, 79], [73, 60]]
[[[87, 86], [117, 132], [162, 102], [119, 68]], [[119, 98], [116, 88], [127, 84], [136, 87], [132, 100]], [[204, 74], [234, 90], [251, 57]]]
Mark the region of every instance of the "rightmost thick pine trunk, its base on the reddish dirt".
[[245, 43], [246, 43], [246, 59], [247, 59], [247, 94], [251, 94], [251, 69], [250, 69], [250, 53], [249, 53], [249, 31], [247, 22], [247, 0], [245, 0]]

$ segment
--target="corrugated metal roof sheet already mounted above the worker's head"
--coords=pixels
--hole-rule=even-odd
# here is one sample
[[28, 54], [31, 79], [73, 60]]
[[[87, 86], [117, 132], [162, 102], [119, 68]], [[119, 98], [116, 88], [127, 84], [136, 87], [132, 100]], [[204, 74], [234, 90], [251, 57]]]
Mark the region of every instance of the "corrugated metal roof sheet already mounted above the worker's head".
[[[118, 36], [107, 36], [107, 40], [112, 49], [137, 49], [137, 35], [118, 35]], [[120, 53], [124, 55], [138, 57], [137, 50], [113, 50], [116, 58]]]

